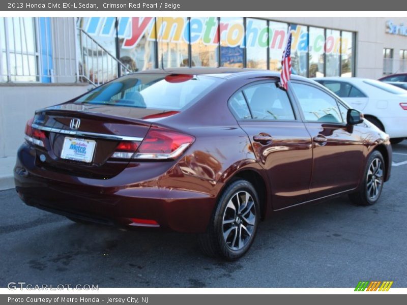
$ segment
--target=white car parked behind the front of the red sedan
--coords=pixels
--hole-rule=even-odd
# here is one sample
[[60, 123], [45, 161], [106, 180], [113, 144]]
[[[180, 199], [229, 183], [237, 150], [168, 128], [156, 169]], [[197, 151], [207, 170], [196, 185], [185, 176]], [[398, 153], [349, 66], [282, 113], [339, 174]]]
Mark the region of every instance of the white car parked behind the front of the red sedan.
[[352, 108], [364, 113], [371, 123], [385, 131], [393, 144], [407, 138], [407, 92], [368, 78], [319, 77], [324, 85]]

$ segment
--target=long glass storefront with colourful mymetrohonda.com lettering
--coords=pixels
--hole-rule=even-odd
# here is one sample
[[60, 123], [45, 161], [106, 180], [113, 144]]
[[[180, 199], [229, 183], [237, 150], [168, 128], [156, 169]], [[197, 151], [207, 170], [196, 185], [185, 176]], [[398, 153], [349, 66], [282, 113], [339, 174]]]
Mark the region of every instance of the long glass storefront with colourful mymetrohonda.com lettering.
[[[269, 67], [281, 71], [288, 31], [288, 23], [256, 18], [246, 18], [244, 22], [240, 17], [121, 17], [117, 29], [114, 24], [115, 17], [81, 18], [86, 33], [113, 56], [118, 55], [115, 42], [118, 35], [118, 58], [130, 71], [161, 66]], [[290, 27], [293, 74], [305, 77], [354, 74], [354, 33], [299, 24]]]

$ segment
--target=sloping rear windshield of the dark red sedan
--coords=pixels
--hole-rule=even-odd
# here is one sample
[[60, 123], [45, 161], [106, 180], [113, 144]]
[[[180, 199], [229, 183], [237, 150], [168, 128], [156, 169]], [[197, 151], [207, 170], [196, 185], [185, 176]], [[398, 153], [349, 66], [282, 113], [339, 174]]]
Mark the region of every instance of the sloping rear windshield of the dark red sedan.
[[180, 110], [222, 81], [205, 75], [134, 74], [102, 85], [75, 103]]

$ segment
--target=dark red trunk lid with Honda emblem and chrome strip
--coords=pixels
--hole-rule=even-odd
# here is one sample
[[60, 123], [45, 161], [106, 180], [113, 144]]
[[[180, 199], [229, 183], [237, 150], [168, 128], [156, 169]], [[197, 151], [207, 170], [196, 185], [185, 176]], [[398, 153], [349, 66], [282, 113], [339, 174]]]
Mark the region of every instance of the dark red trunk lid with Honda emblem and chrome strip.
[[[149, 117], [157, 116], [165, 116], [165, 111], [73, 103], [39, 110], [33, 128], [43, 130], [46, 141], [45, 149], [37, 147], [37, 155], [46, 152], [47, 156], [45, 160], [44, 157], [43, 160], [37, 158], [38, 165], [82, 177], [103, 179], [117, 175], [129, 161], [111, 159], [115, 149], [123, 141], [139, 145], [150, 129]], [[78, 140], [75, 142], [75, 139]], [[69, 143], [78, 144], [83, 140], [94, 146], [90, 148], [94, 150], [90, 162], [64, 159], [63, 150], [67, 150]]]

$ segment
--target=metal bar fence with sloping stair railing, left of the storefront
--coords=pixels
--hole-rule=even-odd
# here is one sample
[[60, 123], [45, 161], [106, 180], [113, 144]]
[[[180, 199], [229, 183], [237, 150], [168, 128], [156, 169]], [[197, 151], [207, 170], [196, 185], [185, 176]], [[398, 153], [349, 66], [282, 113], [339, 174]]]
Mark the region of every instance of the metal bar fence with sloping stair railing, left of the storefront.
[[130, 72], [75, 19], [1, 17], [0, 82], [100, 85]]

